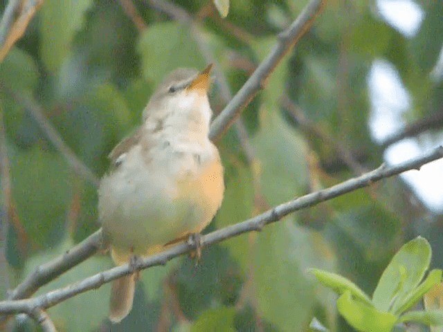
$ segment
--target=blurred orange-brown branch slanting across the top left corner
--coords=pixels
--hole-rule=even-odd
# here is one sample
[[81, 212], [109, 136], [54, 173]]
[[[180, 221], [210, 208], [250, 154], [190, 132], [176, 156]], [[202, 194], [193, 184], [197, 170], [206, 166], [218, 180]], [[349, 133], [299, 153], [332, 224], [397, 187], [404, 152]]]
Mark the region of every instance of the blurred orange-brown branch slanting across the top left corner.
[[[26, 27], [43, 0], [10, 0], [0, 22], [0, 62], [24, 35]], [[17, 16], [17, 19], [16, 19]]]

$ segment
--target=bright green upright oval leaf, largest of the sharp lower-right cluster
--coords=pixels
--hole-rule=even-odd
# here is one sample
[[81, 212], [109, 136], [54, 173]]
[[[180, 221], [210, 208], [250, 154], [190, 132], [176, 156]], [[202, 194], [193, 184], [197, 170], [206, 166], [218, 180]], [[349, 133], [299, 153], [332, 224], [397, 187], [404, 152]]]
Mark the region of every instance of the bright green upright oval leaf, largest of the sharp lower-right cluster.
[[390, 311], [395, 306], [394, 301], [403, 303], [404, 298], [423, 279], [431, 255], [431, 246], [422, 237], [404, 244], [379, 279], [372, 296], [374, 306], [382, 311]]

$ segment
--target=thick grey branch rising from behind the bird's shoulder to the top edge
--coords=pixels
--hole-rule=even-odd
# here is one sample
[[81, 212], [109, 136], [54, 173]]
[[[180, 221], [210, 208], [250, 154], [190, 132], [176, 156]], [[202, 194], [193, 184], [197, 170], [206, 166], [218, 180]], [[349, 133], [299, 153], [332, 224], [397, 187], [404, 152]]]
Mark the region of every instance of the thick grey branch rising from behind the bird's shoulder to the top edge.
[[218, 140], [228, 130], [231, 124], [239, 116], [242, 110], [251, 102], [260, 89], [266, 85], [266, 81], [274, 68], [281, 62], [291, 48], [298, 42], [314, 22], [316, 15], [323, 7], [323, 0], [311, 0], [302, 10], [298, 18], [291, 26], [278, 35], [278, 43], [269, 53], [268, 57], [255, 69], [251, 77], [242, 86], [233, 100], [215, 118], [211, 125], [210, 138]]

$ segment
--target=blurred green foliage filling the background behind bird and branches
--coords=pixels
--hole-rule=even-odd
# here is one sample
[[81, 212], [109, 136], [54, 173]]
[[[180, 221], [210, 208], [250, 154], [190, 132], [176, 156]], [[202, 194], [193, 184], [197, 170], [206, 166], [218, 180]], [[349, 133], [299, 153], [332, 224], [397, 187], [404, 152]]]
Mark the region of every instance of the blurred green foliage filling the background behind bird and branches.
[[[1, 12], [6, 2], [0, 1]], [[96, 188], [75, 175], [17, 95], [40, 104], [66, 144], [101, 176], [107, 154], [140, 123], [164, 75], [178, 66], [206, 64], [189, 26], [154, 10], [149, 1], [133, 0], [146, 24], [139, 31], [123, 9], [125, 2], [46, 0], [0, 64], [12, 180], [10, 223], [0, 244], [6, 247], [10, 288], [99, 227]], [[197, 37], [237, 91], [307, 0], [174, 3], [200, 21]], [[244, 111], [253, 164], [235, 129], [218, 143], [226, 197], [208, 230], [355, 174], [329, 142], [289, 120], [280, 107], [283, 94], [368, 169], [383, 158], [368, 129], [368, 73], [374, 60], [386, 59], [397, 69], [412, 101], [408, 121], [441, 111], [443, 83], [429, 74], [442, 49], [443, 6], [441, 1], [416, 3], [424, 19], [417, 34], [406, 37], [383, 20], [377, 1], [327, 1], [311, 30]], [[219, 113], [224, 102], [214, 85], [210, 99]], [[335, 298], [306, 270], [334, 271], [372, 294], [392, 255], [417, 234], [441, 253], [441, 216], [410, 201], [416, 201], [413, 192], [391, 179], [288, 216], [260, 233], [204, 248], [198, 266], [183, 257], [147, 270], [138, 282], [134, 309], [121, 324], [107, 320], [108, 286], [49, 313], [60, 331], [311, 331], [314, 317], [329, 331], [353, 331], [338, 318]], [[431, 266], [441, 267], [441, 257], [434, 255]], [[108, 257], [93, 257], [42, 292], [109, 266]], [[342, 306], [354, 306], [352, 300], [343, 297]], [[20, 320], [15, 331], [37, 328]]]

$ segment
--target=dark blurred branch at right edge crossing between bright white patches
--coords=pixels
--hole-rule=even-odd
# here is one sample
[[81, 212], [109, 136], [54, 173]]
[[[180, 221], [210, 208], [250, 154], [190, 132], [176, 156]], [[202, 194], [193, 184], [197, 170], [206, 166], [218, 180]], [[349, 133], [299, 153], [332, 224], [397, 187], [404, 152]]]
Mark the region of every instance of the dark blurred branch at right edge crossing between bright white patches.
[[430, 129], [440, 129], [443, 127], [443, 109], [439, 112], [431, 114], [427, 118], [423, 118], [409, 124], [408, 126], [400, 129], [396, 133], [388, 136], [383, 142], [381, 142], [381, 146], [386, 149], [386, 147], [403, 140], [404, 138], [417, 136], [419, 133], [423, 133], [424, 131], [428, 131]]

